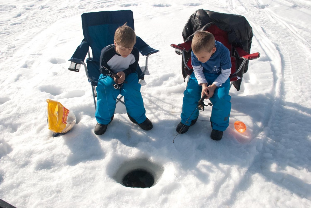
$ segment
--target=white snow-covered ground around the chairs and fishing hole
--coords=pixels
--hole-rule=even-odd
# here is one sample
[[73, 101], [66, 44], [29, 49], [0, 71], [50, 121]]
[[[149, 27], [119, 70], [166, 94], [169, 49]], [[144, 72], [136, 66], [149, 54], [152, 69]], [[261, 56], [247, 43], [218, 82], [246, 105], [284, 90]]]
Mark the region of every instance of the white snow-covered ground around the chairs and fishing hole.
[[[253, 27], [230, 124], [210, 139], [210, 107], [178, 135], [181, 56], [170, 44], [197, 9], [243, 15]], [[153, 129], [132, 124], [117, 104], [102, 136], [83, 68], [67, 68], [83, 39], [81, 14], [134, 13], [135, 31], [160, 50], [142, 87]], [[16, 207], [311, 207], [311, 2], [307, 0], [0, 0], [0, 198]], [[141, 65], [144, 65], [141, 57]], [[46, 99], [74, 112], [75, 127], [52, 137]], [[203, 121], [202, 121], [203, 120]], [[151, 188], [116, 173], [137, 163], [156, 172]]]

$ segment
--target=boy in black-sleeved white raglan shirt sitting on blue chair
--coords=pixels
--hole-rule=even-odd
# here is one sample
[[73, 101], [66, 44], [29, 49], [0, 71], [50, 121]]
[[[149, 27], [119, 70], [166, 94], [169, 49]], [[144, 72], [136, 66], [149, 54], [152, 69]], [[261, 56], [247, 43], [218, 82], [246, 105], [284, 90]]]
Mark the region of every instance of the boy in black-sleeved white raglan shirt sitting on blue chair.
[[136, 35], [134, 30], [124, 24], [114, 34], [114, 44], [102, 49], [100, 55], [101, 75], [96, 87], [97, 124], [94, 132], [102, 135], [114, 117], [116, 99], [124, 96], [128, 117], [143, 130], [151, 130], [152, 123], [146, 117], [146, 110], [140, 93], [136, 71], [139, 52], [134, 47]]

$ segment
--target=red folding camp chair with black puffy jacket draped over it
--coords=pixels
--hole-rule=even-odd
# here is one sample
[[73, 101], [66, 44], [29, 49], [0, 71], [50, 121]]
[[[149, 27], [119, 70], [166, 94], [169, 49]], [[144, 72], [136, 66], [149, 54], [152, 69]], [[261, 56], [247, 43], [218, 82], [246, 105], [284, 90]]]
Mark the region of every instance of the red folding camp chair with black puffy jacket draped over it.
[[260, 53], [250, 54], [253, 29], [245, 17], [240, 15], [197, 10], [188, 19], [183, 29], [184, 42], [171, 44], [175, 52], [182, 55], [183, 77], [191, 75], [191, 42], [196, 31], [212, 33], [215, 40], [224, 44], [231, 53], [230, 87], [233, 84], [239, 91], [243, 74], [248, 70], [248, 61], [260, 57]]

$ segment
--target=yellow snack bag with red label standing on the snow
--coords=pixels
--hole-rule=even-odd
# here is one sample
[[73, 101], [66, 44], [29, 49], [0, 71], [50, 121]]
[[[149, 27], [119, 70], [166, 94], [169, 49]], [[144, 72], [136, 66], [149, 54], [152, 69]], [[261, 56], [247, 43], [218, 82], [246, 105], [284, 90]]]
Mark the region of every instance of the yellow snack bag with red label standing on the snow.
[[76, 124], [76, 116], [60, 102], [47, 99], [48, 127], [53, 136], [68, 132]]

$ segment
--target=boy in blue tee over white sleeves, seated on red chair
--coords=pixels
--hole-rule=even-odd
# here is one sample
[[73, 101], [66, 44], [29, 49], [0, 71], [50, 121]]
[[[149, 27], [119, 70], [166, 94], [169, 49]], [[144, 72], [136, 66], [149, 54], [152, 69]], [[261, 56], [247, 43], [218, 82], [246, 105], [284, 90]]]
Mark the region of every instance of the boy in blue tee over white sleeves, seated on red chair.
[[[181, 122], [176, 131], [186, 133], [199, 116], [197, 107], [199, 99], [205, 94], [213, 104], [211, 112], [211, 139], [220, 140], [223, 131], [229, 126], [231, 111], [230, 73], [231, 58], [229, 50], [214, 35], [207, 31], [194, 34], [191, 43], [191, 62], [193, 73], [183, 97]], [[188, 119], [188, 121], [187, 121]]]

